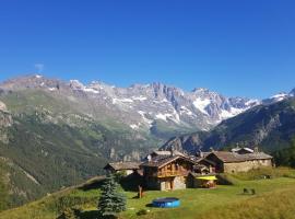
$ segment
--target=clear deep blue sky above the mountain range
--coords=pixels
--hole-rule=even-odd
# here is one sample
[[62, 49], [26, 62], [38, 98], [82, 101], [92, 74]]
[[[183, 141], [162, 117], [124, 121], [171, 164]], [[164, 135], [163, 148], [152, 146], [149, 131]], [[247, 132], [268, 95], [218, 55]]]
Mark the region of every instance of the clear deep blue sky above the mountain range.
[[0, 80], [42, 66], [64, 80], [267, 97], [295, 88], [295, 1], [1, 0]]

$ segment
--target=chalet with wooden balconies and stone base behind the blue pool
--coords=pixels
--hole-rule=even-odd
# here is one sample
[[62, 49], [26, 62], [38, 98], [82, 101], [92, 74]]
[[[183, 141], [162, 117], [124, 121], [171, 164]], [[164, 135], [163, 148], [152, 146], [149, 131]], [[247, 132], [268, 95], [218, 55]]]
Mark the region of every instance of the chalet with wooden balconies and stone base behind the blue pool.
[[[184, 189], [198, 185], [196, 175], [213, 174], [212, 162], [206, 159], [198, 160], [178, 151], [154, 151], [148, 155], [140, 168], [143, 170], [145, 187], [150, 189], [172, 191]], [[211, 178], [212, 180], [212, 178]], [[214, 180], [214, 178], [213, 178]], [[196, 178], [196, 181], [198, 181]]]

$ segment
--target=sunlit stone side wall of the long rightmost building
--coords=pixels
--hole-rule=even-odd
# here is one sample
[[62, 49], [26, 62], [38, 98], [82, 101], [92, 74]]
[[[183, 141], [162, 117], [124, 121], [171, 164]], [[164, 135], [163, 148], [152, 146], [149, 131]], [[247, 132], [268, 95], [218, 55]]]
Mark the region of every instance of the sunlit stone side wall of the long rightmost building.
[[261, 166], [272, 166], [271, 160], [255, 160], [255, 161], [245, 161], [239, 163], [224, 163], [225, 173], [237, 173], [237, 172], [248, 172], [253, 169]]

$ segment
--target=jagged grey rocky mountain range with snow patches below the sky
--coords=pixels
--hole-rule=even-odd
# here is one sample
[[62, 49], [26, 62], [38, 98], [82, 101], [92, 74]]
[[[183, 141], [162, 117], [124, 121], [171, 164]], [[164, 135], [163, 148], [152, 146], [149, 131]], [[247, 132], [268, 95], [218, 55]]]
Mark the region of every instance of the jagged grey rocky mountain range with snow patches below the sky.
[[208, 89], [186, 92], [163, 83], [117, 88], [97, 81], [90, 84], [78, 80], [63, 82], [38, 74], [5, 81], [0, 89], [40, 89], [54, 95], [71, 96], [75, 99], [75, 107], [83, 108], [87, 115], [107, 114], [133, 130], [148, 130], [157, 124], [208, 130], [261, 103], [258, 100], [226, 97]]

